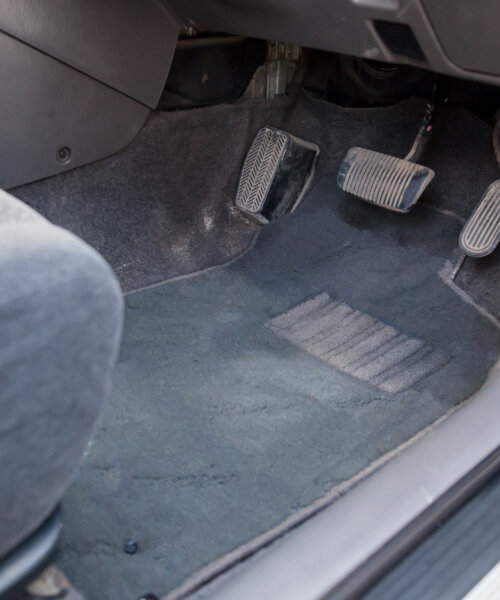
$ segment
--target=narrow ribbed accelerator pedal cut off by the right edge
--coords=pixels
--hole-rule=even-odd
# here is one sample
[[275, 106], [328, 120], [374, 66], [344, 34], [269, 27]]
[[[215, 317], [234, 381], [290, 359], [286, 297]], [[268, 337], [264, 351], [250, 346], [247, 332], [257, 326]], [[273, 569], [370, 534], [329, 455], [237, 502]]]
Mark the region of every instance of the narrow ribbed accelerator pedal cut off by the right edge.
[[460, 247], [469, 256], [491, 254], [500, 242], [500, 179], [493, 182], [460, 234]]

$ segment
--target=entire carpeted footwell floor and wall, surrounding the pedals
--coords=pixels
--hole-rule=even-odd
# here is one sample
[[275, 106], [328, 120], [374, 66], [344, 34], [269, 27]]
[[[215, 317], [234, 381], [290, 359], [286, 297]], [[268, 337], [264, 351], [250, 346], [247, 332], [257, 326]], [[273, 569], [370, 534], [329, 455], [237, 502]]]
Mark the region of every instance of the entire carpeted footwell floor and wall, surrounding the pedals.
[[[111, 396], [63, 503], [57, 561], [89, 599], [160, 597], [242, 556], [481, 387], [500, 256], [464, 259], [458, 237], [498, 178], [490, 126], [439, 107], [420, 160], [436, 176], [409, 214], [336, 183], [352, 146], [404, 156], [424, 110], [298, 89], [156, 111], [118, 154], [11, 190], [97, 248], [125, 292]], [[321, 153], [299, 208], [259, 227], [234, 197], [266, 125]]]

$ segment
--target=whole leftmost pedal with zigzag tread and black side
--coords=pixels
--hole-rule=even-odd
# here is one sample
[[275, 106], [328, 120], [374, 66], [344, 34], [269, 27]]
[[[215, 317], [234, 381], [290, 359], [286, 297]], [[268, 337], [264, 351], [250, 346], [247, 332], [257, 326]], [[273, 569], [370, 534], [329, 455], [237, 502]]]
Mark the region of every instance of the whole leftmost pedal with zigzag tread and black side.
[[236, 207], [261, 225], [293, 212], [312, 182], [318, 155], [316, 144], [263, 127], [243, 163]]

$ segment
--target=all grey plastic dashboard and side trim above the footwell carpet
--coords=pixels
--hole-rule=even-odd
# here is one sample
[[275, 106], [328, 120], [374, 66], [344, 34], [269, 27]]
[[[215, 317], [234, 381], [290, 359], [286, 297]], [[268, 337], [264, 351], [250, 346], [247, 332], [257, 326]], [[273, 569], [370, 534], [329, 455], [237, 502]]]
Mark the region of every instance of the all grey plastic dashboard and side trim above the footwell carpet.
[[158, 104], [183, 28], [500, 85], [495, 10], [493, 0], [6, 0], [0, 187], [130, 143]]

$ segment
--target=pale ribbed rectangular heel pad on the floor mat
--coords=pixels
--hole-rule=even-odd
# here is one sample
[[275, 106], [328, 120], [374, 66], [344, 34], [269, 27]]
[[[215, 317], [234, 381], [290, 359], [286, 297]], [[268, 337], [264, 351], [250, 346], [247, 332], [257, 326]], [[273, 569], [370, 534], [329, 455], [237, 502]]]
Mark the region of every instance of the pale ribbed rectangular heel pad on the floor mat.
[[272, 331], [333, 367], [395, 394], [435, 373], [448, 357], [424, 340], [328, 294], [267, 323]]

